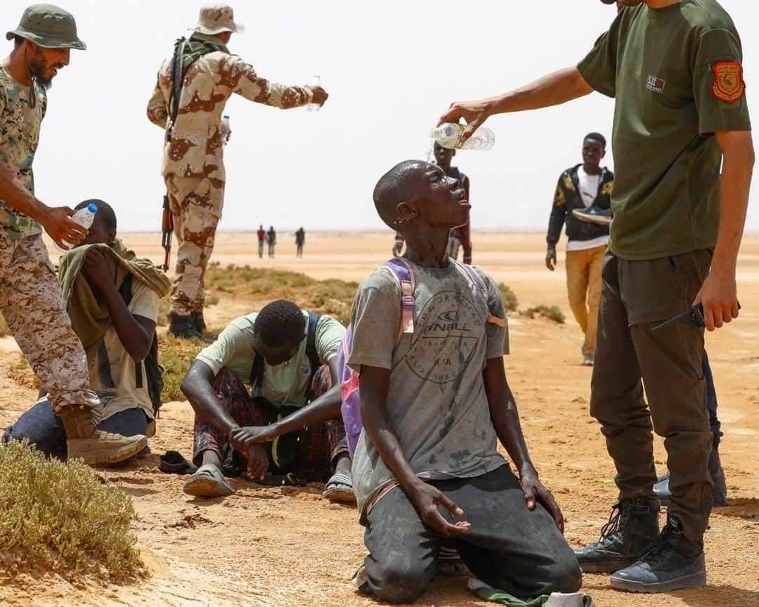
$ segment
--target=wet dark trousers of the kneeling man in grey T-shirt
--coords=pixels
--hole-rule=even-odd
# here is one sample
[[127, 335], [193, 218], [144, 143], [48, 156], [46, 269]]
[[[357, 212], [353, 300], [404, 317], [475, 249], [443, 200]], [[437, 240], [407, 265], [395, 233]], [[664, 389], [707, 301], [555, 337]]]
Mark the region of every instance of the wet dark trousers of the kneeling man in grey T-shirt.
[[364, 533], [369, 549], [364, 565], [369, 590], [377, 599], [419, 598], [435, 578], [443, 542], [455, 546], [472, 574], [514, 596], [579, 589], [582, 574], [574, 552], [543, 506], [527, 509], [524, 492], [508, 466], [471, 479], [432, 484], [464, 509], [463, 519], [471, 529], [452, 540], [442, 538], [424, 526], [400, 487], [391, 489], [371, 509]]

